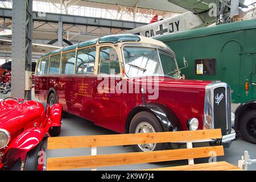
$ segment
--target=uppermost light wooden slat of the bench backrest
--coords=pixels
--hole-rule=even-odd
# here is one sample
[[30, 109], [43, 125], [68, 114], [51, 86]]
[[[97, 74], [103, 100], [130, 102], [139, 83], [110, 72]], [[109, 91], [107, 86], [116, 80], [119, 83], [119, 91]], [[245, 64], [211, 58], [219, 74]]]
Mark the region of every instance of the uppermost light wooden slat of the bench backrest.
[[48, 138], [48, 150], [61, 148], [123, 146], [143, 143], [190, 142], [222, 138], [221, 130], [175, 131], [161, 133], [90, 135], [80, 137]]

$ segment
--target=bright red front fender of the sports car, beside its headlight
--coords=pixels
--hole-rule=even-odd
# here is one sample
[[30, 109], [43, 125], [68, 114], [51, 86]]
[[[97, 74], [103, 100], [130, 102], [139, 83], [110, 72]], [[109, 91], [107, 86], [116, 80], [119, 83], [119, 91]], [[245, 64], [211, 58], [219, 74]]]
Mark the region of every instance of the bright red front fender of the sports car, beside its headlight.
[[13, 142], [11, 142], [8, 149], [17, 148], [28, 152], [37, 146], [45, 136], [49, 137], [49, 134], [43, 128], [34, 127], [32, 129], [28, 129], [16, 137]]

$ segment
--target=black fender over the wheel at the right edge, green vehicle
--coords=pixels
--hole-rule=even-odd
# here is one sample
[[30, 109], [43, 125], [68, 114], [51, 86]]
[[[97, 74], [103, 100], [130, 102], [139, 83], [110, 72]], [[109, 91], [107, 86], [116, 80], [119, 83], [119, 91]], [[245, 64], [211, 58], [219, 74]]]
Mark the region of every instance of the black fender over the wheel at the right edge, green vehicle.
[[244, 102], [243, 104], [241, 104], [240, 106], [237, 107], [237, 109], [235, 111], [236, 117], [235, 117], [235, 121], [234, 121], [234, 129], [236, 131], [239, 131], [239, 121], [240, 121], [242, 115], [250, 110], [256, 110], [256, 100]]

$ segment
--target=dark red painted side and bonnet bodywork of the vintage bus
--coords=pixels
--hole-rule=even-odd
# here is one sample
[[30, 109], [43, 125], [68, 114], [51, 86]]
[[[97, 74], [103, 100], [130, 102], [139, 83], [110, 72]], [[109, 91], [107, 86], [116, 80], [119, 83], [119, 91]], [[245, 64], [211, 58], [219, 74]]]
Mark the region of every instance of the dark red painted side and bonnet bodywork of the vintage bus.
[[[116, 79], [114, 86], [122, 80], [111, 79]], [[134, 86], [138, 79], [142, 80], [140, 87], [146, 84], [146, 77], [128, 78], [125, 81]], [[142, 93], [99, 93], [97, 86], [100, 82], [96, 75], [36, 75], [35, 97], [47, 102], [49, 93], [55, 90], [63, 110], [88, 119], [98, 126], [126, 133], [127, 117], [135, 107], [143, 105]], [[147, 103], [160, 104], [173, 111], [182, 130], [187, 130], [187, 121], [190, 118], [199, 119], [199, 129], [203, 129], [205, 86], [210, 81], [158, 77], [153, 82], [159, 84], [159, 97], [148, 100], [148, 94], [145, 94]], [[86, 84], [84, 96], [79, 94], [81, 84]], [[109, 88], [111, 89], [113, 88]]]

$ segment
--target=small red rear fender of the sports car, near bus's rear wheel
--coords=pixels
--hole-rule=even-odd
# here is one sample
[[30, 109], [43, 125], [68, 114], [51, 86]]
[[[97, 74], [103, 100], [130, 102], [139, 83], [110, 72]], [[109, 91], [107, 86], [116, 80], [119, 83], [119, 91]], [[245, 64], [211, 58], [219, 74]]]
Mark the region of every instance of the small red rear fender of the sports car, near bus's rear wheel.
[[54, 104], [49, 113], [49, 117], [52, 121], [52, 126], [61, 126], [61, 114], [63, 107], [61, 104]]

